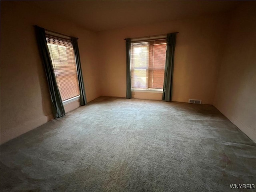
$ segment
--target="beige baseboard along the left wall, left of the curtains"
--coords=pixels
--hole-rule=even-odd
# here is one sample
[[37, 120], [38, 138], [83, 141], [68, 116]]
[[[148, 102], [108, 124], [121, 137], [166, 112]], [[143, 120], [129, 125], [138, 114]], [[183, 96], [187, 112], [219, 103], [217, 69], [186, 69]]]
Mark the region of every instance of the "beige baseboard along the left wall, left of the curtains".
[[1, 144], [8, 142], [9, 140], [12, 140], [34, 128], [37, 128], [41, 126], [42, 124], [45, 124], [46, 122], [53, 119], [53, 115], [49, 114], [47, 116], [43, 116], [42, 118], [39, 118], [37, 120], [33, 120], [30, 122], [26, 122], [20, 126], [16, 126], [10, 130], [7, 130], [6, 132], [1, 132]]

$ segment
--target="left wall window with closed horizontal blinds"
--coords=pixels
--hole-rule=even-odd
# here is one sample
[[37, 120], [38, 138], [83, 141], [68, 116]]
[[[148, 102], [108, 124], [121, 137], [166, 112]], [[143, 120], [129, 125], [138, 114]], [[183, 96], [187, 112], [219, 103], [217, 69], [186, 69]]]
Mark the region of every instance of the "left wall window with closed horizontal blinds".
[[79, 96], [76, 59], [71, 40], [46, 34], [46, 41], [62, 102]]

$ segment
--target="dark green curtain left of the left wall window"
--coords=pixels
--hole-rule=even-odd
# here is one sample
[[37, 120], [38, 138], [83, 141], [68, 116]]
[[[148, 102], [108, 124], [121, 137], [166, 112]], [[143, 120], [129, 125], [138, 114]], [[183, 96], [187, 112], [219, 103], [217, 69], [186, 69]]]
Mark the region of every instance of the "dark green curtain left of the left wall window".
[[62, 117], [65, 115], [65, 110], [62, 104], [62, 99], [60, 97], [60, 92], [54, 75], [52, 60], [50, 58], [50, 53], [46, 42], [45, 30], [44, 28], [38, 26], [35, 26], [35, 29], [38, 48], [44, 64], [44, 69], [46, 72], [46, 77], [49, 85], [49, 92], [52, 101], [52, 113], [55, 118]]

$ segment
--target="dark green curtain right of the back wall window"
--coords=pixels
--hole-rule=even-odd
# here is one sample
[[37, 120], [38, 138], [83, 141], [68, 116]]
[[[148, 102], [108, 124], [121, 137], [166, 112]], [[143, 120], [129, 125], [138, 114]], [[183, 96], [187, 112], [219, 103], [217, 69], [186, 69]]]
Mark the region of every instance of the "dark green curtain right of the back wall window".
[[174, 50], [176, 43], [176, 33], [167, 34], [166, 39], [166, 63], [164, 70], [164, 88], [162, 100], [172, 100], [172, 81], [174, 67]]

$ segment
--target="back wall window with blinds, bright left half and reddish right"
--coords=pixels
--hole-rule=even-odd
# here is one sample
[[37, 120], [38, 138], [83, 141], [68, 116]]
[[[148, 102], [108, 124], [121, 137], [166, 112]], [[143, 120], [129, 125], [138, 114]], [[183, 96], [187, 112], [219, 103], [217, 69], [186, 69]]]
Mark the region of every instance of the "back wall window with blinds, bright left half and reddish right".
[[131, 43], [132, 88], [163, 89], [166, 39]]

